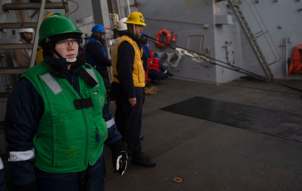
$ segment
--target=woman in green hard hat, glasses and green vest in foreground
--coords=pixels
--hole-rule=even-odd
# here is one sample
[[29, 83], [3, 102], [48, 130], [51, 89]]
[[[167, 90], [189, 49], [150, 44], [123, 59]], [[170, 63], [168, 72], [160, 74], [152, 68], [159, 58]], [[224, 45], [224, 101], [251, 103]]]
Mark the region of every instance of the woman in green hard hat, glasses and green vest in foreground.
[[60, 13], [45, 19], [43, 61], [24, 72], [8, 97], [5, 137], [16, 190], [104, 190], [103, 143], [115, 174], [126, 169], [103, 79], [77, 59], [81, 35]]

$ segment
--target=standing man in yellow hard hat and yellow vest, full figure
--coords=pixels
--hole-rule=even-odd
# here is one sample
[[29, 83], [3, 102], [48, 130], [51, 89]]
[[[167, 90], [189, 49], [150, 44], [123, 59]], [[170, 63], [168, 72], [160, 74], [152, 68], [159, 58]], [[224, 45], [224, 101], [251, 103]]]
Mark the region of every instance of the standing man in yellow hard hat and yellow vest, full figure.
[[145, 19], [142, 13], [132, 12], [124, 23], [127, 32], [114, 48], [114, 74], [109, 97], [116, 100], [116, 125], [122, 140], [127, 142], [131, 163], [153, 167], [156, 162], [142, 152], [140, 141], [145, 87], [143, 49], [140, 47], [143, 40], [140, 36], [146, 26]]

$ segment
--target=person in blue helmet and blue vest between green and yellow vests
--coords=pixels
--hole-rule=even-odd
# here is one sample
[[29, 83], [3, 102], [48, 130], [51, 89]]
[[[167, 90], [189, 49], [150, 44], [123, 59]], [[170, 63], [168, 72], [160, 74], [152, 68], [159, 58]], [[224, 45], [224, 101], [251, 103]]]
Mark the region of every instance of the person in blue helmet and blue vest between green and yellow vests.
[[96, 24], [91, 29], [92, 35], [85, 43], [86, 62], [94, 67], [103, 77], [106, 90], [110, 88], [110, 81], [107, 67], [111, 66], [104, 48], [105, 28], [101, 24]]

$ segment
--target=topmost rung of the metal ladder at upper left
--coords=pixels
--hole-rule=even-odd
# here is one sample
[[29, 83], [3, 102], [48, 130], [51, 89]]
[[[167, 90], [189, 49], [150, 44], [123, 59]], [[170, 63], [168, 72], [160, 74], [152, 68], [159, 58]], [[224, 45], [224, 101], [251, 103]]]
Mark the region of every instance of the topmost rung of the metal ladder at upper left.
[[[3, 10], [27, 10], [40, 9], [41, 3], [5, 3]], [[44, 9], [64, 9], [63, 2], [45, 3]]]

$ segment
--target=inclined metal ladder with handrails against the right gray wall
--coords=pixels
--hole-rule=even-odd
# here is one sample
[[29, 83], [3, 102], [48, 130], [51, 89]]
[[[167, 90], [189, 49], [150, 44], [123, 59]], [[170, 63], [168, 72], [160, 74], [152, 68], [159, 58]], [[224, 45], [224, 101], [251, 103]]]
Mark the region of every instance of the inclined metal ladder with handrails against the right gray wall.
[[[272, 73], [271, 68], [269, 67], [269, 65], [278, 62], [281, 59], [281, 56], [280, 56], [280, 54], [279, 54], [279, 52], [278, 52], [278, 50], [276, 48], [276, 50], [277, 50], [277, 52], [279, 54], [279, 57], [280, 57], [279, 60], [276, 60], [276, 55], [275, 55], [273, 49], [271, 48], [273, 54], [275, 55], [275, 61], [272, 62], [272, 63], [268, 63], [267, 60], [266, 60], [266, 58], [265, 58], [265, 56], [264, 56], [264, 54], [263, 54], [263, 52], [262, 52], [262, 50], [261, 50], [261, 48], [260, 48], [260, 46], [259, 46], [259, 44], [258, 44], [258, 42], [257, 42], [257, 39], [256, 39], [256, 38], [258, 38], [261, 35], [265, 35], [265, 34], [269, 35], [268, 30], [267, 29], [266, 29], [266, 31], [261, 30], [260, 32], [256, 33], [256, 35], [258, 35], [258, 36], [255, 36], [255, 34], [252, 32], [252, 30], [251, 30], [251, 28], [250, 28], [250, 26], [249, 26], [249, 24], [248, 24], [248, 22], [246, 20], [246, 17], [243, 15], [243, 12], [242, 12], [242, 10], [241, 10], [241, 8], [240, 8], [239, 3], [237, 2], [237, 0], [227, 0], [227, 1], [228, 1], [229, 5], [230, 5], [230, 8], [234, 11], [236, 19], [237, 19], [239, 25], [241, 26], [241, 28], [243, 29], [244, 34], [246, 35], [246, 38], [248, 39], [250, 45], [252, 46], [252, 50], [253, 50], [254, 54], [256, 55], [257, 61], [260, 63], [260, 66], [261, 66], [263, 72], [265, 73], [265, 76], [268, 79], [275, 80], [274, 74]], [[258, 22], [258, 20], [257, 20], [257, 22]], [[258, 24], [259, 24], [259, 22], [258, 22]], [[269, 35], [269, 37], [270, 37], [270, 35]], [[265, 36], [265, 38], [267, 39], [266, 36]], [[270, 43], [269, 43], [269, 45], [270, 45]]]

